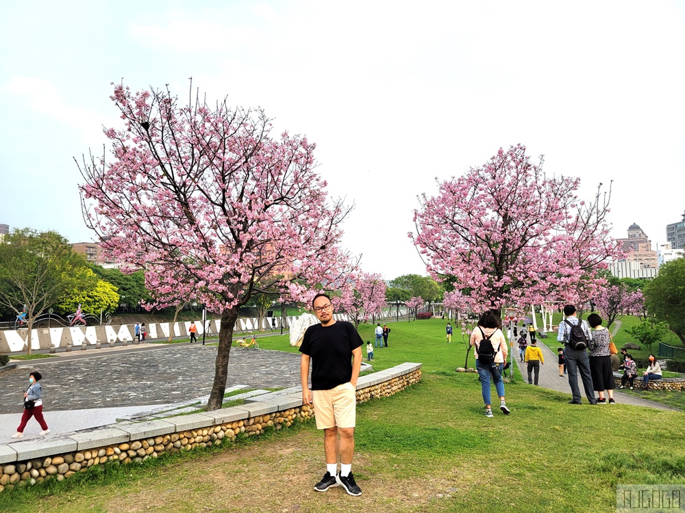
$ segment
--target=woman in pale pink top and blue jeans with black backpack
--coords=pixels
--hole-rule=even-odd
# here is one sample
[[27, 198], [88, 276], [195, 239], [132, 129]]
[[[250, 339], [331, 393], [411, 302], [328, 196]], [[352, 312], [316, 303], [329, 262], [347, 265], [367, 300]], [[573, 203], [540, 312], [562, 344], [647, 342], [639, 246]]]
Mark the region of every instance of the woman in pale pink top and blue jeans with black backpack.
[[480, 316], [478, 326], [471, 333], [471, 345], [475, 347], [475, 368], [480, 376], [480, 384], [485, 403], [485, 416], [493, 417], [490, 401], [490, 378], [495, 383], [499, 395], [499, 409], [504, 415], [510, 410], [504, 401], [504, 382], [502, 371], [507, 359], [507, 341], [502, 332], [501, 319], [495, 311], [488, 310]]

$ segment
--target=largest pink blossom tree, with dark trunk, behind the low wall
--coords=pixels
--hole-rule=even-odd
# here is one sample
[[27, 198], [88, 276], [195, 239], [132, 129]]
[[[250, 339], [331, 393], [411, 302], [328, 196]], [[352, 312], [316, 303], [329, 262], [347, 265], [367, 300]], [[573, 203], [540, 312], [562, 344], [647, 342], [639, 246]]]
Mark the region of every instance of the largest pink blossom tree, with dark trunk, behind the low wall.
[[105, 129], [111, 159], [79, 165], [84, 219], [114, 257], [145, 269], [155, 306], [195, 293], [221, 313], [208, 403], [221, 408], [238, 308], [256, 292], [302, 300], [340, 283], [351, 207], [328, 198], [314, 144], [273, 134], [261, 109], [122, 85], [111, 98], [123, 124]]

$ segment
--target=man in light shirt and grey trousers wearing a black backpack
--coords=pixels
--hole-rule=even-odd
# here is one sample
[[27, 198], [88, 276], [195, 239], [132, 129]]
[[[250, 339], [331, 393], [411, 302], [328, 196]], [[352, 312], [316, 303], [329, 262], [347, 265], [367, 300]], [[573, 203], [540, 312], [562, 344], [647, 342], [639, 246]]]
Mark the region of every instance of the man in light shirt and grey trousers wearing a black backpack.
[[[578, 388], [578, 373], [583, 381], [585, 395], [590, 404], [597, 404], [593, 391], [593, 377], [590, 374], [590, 360], [588, 360], [588, 341], [590, 340], [590, 326], [575, 315], [575, 306], [564, 306], [566, 319], [559, 324], [557, 341], [564, 343], [566, 355], [566, 371], [569, 374], [569, 385], [573, 399], [569, 404], [581, 404], [580, 389]], [[579, 329], [580, 328], [580, 329]]]

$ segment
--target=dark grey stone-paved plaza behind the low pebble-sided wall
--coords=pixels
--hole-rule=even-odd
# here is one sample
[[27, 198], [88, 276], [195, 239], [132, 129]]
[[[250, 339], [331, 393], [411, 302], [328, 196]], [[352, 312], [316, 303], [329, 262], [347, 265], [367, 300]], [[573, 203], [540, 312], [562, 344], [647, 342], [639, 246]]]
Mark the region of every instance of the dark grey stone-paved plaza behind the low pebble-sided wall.
[[[208, 395], [214, 380], [216, 346], [163, 345], [74, 360], [36, 360], [0, 373], [0, 414], [21, 413], [28, 372], [42, 373], [45, 415], [82, 410], [159, 405]], [[227, 386], [284, 388], [299, 384], [299, 354], [232, 350]]]

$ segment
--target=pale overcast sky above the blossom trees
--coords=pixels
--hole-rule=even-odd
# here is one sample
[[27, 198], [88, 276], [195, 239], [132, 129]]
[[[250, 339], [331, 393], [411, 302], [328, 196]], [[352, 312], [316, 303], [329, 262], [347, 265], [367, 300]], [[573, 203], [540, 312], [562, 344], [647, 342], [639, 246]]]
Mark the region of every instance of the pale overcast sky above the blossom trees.
[[345, 245], [387, 279], [425, 268], [416, 195], [500, 146], [545, 154], [614, 236], [652, 241], [685, 211], [685, 2], [33, 1], [0, 21], [0, 223], [92, 239], [74, 156], [119, 122], [111, 82], [188, 77], [316, 142]]

